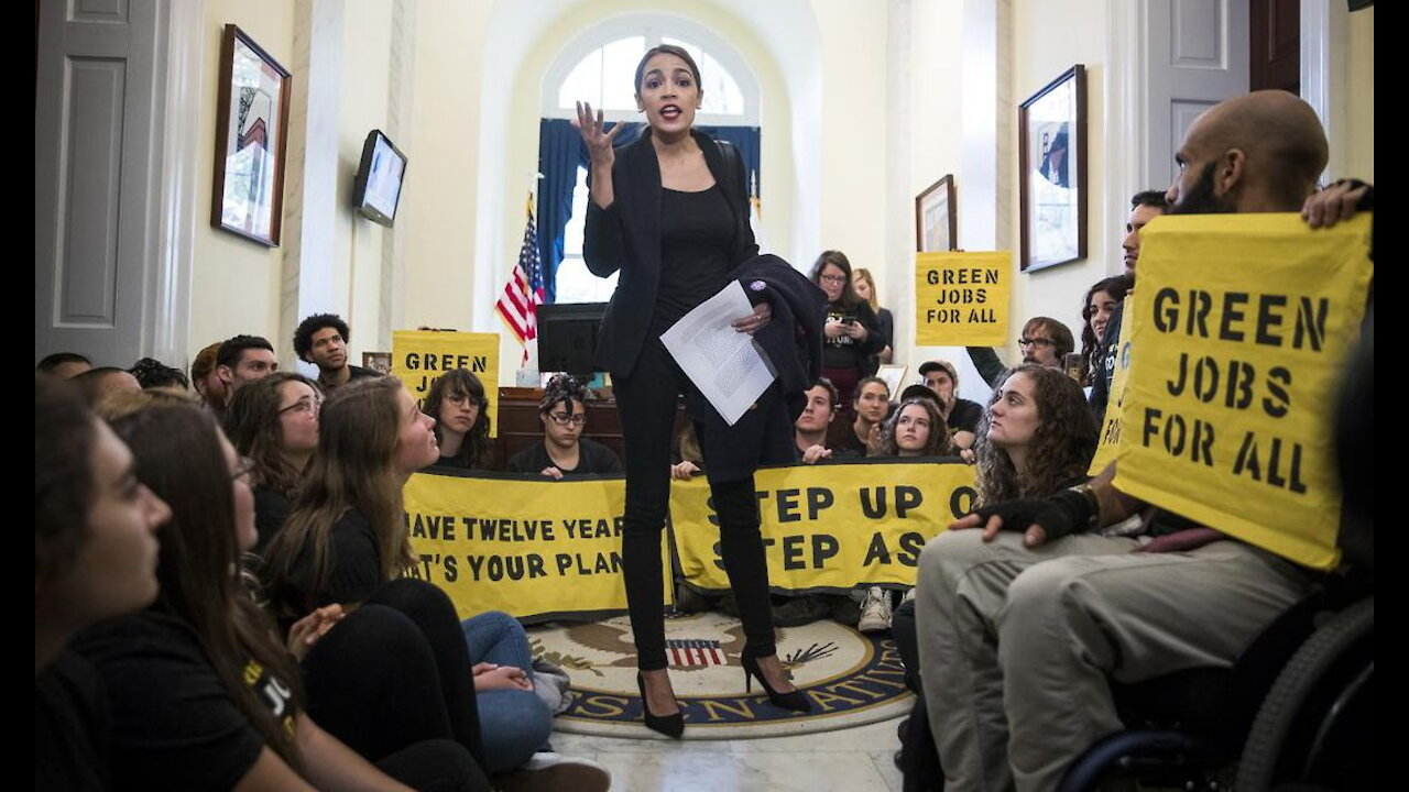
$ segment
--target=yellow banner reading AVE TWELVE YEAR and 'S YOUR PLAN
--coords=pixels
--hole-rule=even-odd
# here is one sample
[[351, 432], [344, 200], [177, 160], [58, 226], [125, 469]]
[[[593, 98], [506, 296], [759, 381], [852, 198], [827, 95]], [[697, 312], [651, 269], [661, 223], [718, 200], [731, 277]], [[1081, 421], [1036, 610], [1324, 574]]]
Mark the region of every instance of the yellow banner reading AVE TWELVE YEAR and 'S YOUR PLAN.
[[[421, 559], [416, 576], [445, 590], [461, 619], [486, 610], [540, 621], [626, 610], [621, 476], [427, 472], [411, 476], [403, 497], [411, 548]], [[661, 544], [661, 564], [669, 569]]]

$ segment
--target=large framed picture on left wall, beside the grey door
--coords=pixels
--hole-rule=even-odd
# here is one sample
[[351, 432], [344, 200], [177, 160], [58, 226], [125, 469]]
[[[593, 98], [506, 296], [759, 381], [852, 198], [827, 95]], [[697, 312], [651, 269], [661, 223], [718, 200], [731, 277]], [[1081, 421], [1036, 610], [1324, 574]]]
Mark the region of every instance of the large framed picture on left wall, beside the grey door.
[[245, 31], [225, 25], [210, 223], [269, 247], [279, 245], [283, 216], [289, 80]]

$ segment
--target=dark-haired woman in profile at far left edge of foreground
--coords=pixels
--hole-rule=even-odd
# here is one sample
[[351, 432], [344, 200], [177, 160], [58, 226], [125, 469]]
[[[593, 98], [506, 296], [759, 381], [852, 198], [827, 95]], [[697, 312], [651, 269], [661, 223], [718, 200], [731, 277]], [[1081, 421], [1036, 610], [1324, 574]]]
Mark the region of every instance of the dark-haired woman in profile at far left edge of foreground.
[[156, 598], [170, 509], [132, 454], [58, 376], [34, 378], [34, 788], [106, 789], [104, 693], [69, 651], [82, 629]]

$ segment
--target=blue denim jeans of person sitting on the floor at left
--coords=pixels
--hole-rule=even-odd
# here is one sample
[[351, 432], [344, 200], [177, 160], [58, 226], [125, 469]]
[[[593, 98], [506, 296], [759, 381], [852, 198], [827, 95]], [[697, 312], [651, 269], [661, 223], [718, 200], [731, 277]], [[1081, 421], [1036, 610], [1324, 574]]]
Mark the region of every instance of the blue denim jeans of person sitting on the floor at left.
[[[473, 664], [493, 662], [521, 668], [533, 679], [533, 652], [528, 636], [519, 620], [507, 613], [490, 610], [461, 623], [469, 660]], [[533, 691], [478, 691], [479, 726], [485, 738], [486, 764], [490, 774], [513, 769], [548, 744], [552, 734], [552, 712]]]

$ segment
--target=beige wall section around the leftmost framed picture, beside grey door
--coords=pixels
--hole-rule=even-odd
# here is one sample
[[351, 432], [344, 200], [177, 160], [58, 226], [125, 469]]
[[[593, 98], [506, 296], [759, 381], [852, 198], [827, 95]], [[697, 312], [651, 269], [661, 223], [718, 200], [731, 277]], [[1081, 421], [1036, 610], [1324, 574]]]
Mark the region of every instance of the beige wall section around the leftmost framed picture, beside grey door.
[[285, 0], [207, 0], [201, 56], [200, 141], [196, 168], [196, 235], [190, 289], [189, 354], [237, 333], [276, 338], [279, 327], [280, 248], [266, 248], [210, 224], [210, 190], [216, 156], [216, 106], [220, 83], [220, 41], [234, 23], [273, 59], [293, 61], [293, 3]]

